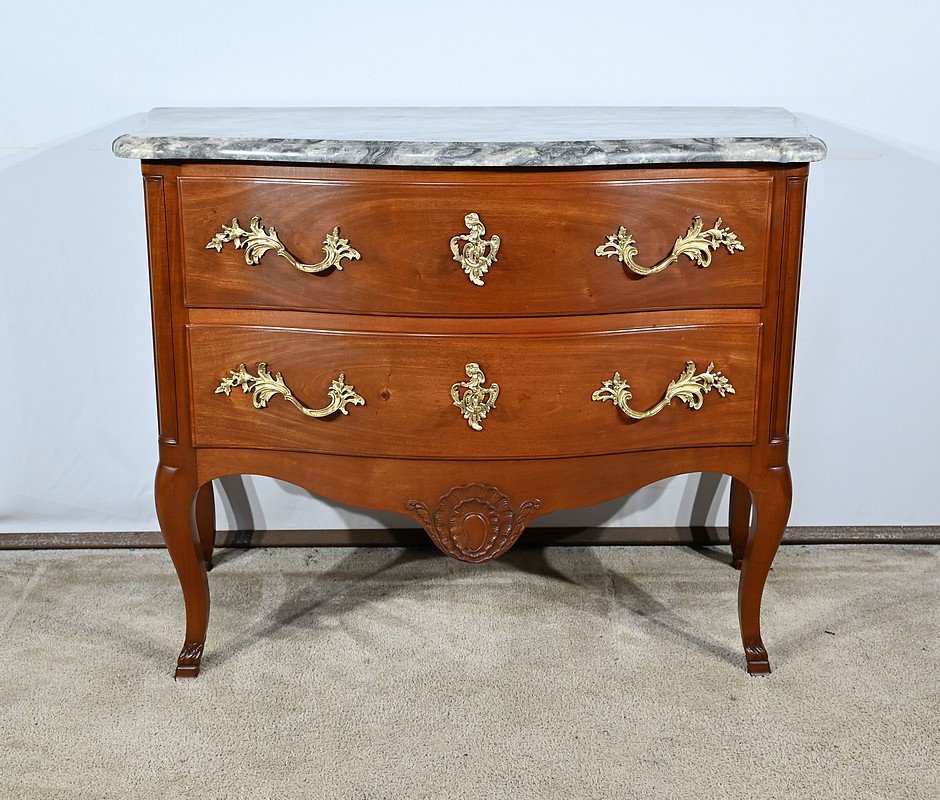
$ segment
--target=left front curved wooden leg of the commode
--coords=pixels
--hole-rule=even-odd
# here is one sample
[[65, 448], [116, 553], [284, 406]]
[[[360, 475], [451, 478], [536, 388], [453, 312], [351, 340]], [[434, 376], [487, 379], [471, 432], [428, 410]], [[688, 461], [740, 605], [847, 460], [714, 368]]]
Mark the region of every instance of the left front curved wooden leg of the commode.
[[177, 660], [177, 678], [195, 678], [199, 674], [209, 623], [209, 580], [202, 544], [193, 525], [197, 488], [190, 470], [162, 463], [157, 467], [157, 518], [186, 604], [186, 637]]

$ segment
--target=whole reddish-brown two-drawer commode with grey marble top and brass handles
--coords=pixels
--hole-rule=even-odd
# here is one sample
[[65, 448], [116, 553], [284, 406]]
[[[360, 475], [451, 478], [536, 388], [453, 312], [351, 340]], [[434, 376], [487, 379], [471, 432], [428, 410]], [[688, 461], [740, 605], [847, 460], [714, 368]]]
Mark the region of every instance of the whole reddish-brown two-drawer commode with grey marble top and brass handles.
[[[411, 514], [464, 561], [536, 516], [730, 475], [749, 672], [790, 508], [808, 163], [782, 109], [156, 109], [156, 505], [198, 674], [211, 481]], [[752, 522], [752, 504], [755, 513]]]

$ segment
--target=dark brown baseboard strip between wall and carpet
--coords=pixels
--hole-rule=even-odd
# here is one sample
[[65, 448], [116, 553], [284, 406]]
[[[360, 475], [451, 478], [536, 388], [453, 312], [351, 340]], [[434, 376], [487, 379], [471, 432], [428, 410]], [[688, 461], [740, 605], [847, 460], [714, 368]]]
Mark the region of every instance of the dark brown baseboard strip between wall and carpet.
[[[940, 544], [940, 525], [787, 528], [784, 544]], [[391, 530], [219, 531], [219, 547], [432, 547], [420, 528]], [[521, 547], [565, 545], [721, 545], [724, 527], [528, 528]], [[159, 531], [4, 533], [0, 550], [163, 547]]]

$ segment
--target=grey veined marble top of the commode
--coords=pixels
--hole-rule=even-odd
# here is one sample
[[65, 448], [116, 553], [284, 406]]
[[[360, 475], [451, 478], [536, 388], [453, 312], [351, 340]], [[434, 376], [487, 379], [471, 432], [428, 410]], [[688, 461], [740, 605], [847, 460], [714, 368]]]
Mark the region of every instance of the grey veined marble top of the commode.
[[782, 108], [155, 108], [123, 158], [420, 167], [819, 161]]

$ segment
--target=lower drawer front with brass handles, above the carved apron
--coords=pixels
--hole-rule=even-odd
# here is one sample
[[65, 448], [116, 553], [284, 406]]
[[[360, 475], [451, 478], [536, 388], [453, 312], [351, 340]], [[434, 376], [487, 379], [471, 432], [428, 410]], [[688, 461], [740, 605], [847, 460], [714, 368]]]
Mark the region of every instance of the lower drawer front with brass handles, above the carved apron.
[[519, 336], [188, 330], [197, 447], [498, 459], [755, 436], [759, 324]]

